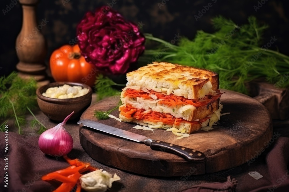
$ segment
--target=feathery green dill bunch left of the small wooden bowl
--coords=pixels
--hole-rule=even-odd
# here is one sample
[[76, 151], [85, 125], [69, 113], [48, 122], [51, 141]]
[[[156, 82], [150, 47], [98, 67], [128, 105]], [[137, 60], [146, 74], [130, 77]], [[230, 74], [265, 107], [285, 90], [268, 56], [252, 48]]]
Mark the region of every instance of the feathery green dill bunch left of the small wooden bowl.
[[18, 133], [22, 134], [21, 126], [26, 124], [25, 114], [35, 107], [37, 107], [37, 101], [34, 79], [23, 80], [16, 72], [0, 78], [1, 131], [4, 131], [3, 127], [8, 120], [14, 118]]

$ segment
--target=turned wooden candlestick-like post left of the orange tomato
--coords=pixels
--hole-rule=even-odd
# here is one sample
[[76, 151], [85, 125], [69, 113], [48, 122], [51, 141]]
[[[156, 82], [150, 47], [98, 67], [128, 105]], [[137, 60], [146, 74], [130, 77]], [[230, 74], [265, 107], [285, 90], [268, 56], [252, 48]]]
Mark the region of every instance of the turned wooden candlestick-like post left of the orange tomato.
[[45, 56], [47, 43], [40, 33], [41, 28], [47, 23], [46, 20], [38, 25], [36, 21], [36, 6], [39, 0], [20, 0], [23, 9], [23, 23], [21, 31], [16, 39], [16, 53], [19, 63], [16, 68], [23, 79], [34, 77], [38, 84], [47, 84], [45, 73]]

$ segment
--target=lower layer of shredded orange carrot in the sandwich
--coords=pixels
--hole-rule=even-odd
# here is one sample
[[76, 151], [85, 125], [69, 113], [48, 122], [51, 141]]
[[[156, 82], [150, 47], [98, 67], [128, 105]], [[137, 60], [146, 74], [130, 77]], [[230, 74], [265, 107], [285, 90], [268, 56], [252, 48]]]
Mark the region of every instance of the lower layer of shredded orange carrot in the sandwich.
[[133, 120], [147, 120], [150, 122], [162, 122], [163, 124], [166, 125], [179, 125], [181, 122], [184, 123], [203, 123], [205, 120], [210, 119], [210, 117], [205, 117], [199, 121], [186, 121], [183, 118], [176, 118], [171, 114], [166, 114], [166, 113], [160, 113], [160, 112], [155, 112], [151, 111], [149, 113], [144, 113], [145, 109], [136, 109], [132, 107], [130, 104], [126, 104], [125, 106], [122, 106], [119, 108], [120, 109], [120, 114], [125, 116], [127, 119], [133, 119]]

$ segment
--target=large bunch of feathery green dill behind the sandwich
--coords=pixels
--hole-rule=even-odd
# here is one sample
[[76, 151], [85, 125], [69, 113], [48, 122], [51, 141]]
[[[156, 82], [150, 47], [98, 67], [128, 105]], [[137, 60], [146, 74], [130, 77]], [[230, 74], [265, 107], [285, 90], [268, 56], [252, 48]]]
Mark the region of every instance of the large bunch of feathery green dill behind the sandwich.
[[257, 78], [275, 83], [276, 87], [288, 87], [289, 81], [283, 81], [283, 78], [289, 72], [289, 57], [266, 46], [278, 37], [273, 36], [268, 41], [262, 39], [268, 26], [259, 25], [255, 17], [249, 17], [248, 21], [249, 24], [238, 26], [232, 20], [216, 17], [212, 20], [215, 33], [198, 31], [192, 41], [179, 39], [178, 46], [147, 34], [147, 39], [160, 45], [155, 50], [146, 50], [140, 60], [151, 61], [158, 51], [165, 50], [159, 61], [215, 71], [219, 73], [221, 88], [246, 94], [245, 83]]

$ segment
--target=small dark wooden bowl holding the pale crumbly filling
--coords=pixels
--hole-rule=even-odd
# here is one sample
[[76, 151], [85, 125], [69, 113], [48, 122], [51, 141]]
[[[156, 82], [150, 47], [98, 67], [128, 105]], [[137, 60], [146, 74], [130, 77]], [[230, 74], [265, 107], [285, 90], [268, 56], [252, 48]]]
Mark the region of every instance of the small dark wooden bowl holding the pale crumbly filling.
[[[89, 91], [87, 94], [70, 98], [70, 99], [55, 99], [49, 98], [42, 95], [46, 92], [48, 88], [59, 87], [64, 84], [70, 86], [81, 86], [82, 88], [87, 88]], [[89, 106], [92, 98], [92, 89], [90, 86], [82, 83], [72, 83], [72, 82], [55, 82], [43, 85], [36, 90], [37, 102], [40, 110], [47, 116], [49, 119], [55, 121], [63, 121], [72, 111], [73, 115], [69, 120], [79, 117]]]

